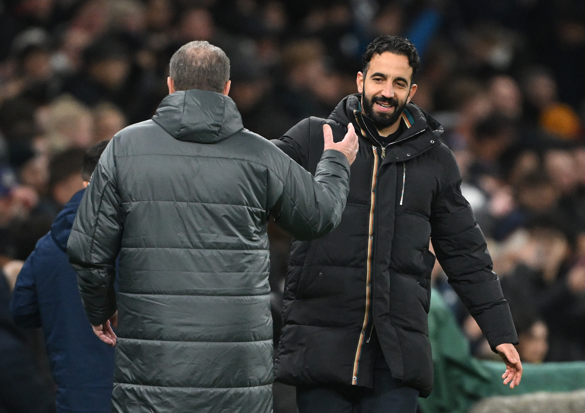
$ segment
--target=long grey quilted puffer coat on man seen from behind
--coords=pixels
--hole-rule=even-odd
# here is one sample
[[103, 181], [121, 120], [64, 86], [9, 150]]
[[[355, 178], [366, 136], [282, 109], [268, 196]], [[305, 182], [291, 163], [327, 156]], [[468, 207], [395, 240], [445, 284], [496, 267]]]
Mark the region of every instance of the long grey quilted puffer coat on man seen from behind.
[[118, 309], [113, 411], [270, 412], [268, 215], [318, 238], [348, 192], [342, 153], [312, 177], [215, 92], [168, 95], [113, 137], [68, 241], [92, 325]]

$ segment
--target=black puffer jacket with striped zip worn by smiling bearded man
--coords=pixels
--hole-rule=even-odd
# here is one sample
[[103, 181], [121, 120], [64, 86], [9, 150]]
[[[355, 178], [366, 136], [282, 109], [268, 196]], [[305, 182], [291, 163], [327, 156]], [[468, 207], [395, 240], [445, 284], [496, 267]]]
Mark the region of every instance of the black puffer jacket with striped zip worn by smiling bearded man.
[[359, 96], [343, 99], [328, 120], [305, 119], [273, 141], [314, 172], [325, 122], [336, 141], [349, 122], [362, 134], [339, 227], [291, 247], [276, 379], [371, 386], [375, 328], [393, 376], [426, 397], [433, 383], [429, 238], [490, 345], [517, 336], [486, 240], [461, 195], [455, 157], [439, 142], [441, 125], [409, 104], [402, 119], [408, 129], [382, 149]]

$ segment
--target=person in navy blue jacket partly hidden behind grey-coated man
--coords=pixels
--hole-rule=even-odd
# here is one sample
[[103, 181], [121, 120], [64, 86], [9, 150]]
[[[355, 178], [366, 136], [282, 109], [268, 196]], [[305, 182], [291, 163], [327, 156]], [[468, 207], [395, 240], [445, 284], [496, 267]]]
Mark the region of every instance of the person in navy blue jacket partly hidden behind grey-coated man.
[[[83, 158], [85, 186], [108, 141]], [[12, 294], [11, 312], [22, 328], [43, 328], [51, 372], [57, 384], [58, 412], [111, 412], [113, 349], [93, 333], [77, 288], [77, 275], [66, 250], [85, 189], [77, 191], [37, 242]]]

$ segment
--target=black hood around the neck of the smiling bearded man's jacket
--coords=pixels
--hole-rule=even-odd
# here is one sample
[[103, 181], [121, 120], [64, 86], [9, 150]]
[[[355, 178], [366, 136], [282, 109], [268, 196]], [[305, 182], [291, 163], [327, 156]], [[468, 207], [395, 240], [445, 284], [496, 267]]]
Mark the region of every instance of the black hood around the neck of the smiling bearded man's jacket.
[[[333, 109], [333, 112], [331, 112], [331, 115], [329, 115], [329, 119], [339, 122], [344, 126], [347, 126], [347, 123], [352, 122], [353, 126], [356, 126], [356, 131], [363, 129], [361, 123], [358, 122], [358, 119], [363, 119], [364, 122], [368, 124], [371, 123], [370, 128], [374, 128], [371, 119], [362, 113], [360, 99], [362, 99], [362, 94], [360, 93], [349, 95], [343, 98], [337, 107]], [[439, 122], [437, 122], [431, 115], [423, 111], [417, 105], [407, 104], [404, 111], [407, 115], [407, 118], [411, 119], [412, 121], [411, 128], [409, 128], [405, 134], [413, 132], [416, 134], [426, 129], [437, 139], [443, 135], [443, 126], [441, 126]], [[372, 137], [366, 136], [366, 138], [372, 140]], [[400, 142], [400, 140], [401, 138], [399, 138], [395, 143]]]

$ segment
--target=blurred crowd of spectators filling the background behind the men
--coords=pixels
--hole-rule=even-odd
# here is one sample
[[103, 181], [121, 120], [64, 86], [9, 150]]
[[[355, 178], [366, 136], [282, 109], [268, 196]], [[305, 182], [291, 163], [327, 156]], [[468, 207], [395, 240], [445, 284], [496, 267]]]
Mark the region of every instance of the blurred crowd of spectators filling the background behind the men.
[[[421, 55], [413, 102], [442, 123], [456, 154], [522, 360], [585, 360], [579, 0], [0, 1], [5, 275], [13, 282], [82, 188], [85, 150], [153, 115], [184, 43], [225, 50], [244, 126], [275, 139], [355, 93], [363, 50], [383, 33], [407, 37]], [[290, 239], [270, 228], [277, 315]], [[433, 277], [474, 355], [494, 357], [439, 266]]]

